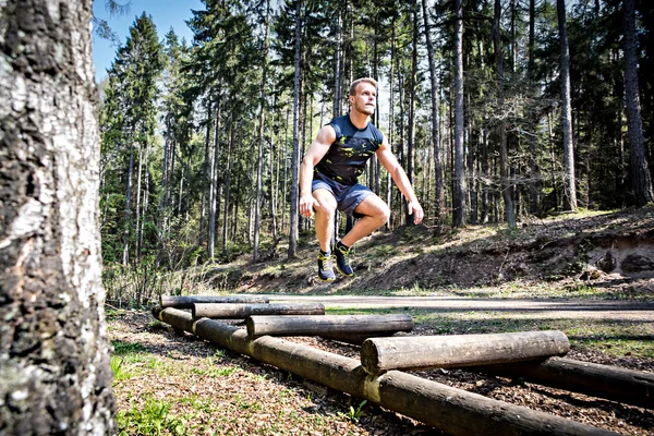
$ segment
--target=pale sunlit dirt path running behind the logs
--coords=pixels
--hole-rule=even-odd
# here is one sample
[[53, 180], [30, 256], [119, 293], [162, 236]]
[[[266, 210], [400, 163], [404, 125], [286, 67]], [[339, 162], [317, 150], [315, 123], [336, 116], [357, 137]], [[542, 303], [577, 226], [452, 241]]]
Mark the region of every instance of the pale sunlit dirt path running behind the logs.
[[429, 312], [506, 312], [540, 318], [621, 319], [654, 323], [654, 303], [634, 301], [362, 295], [269, 295], [269, 298], [271, 303], [324, 303], [329, 308], [411, 307]]

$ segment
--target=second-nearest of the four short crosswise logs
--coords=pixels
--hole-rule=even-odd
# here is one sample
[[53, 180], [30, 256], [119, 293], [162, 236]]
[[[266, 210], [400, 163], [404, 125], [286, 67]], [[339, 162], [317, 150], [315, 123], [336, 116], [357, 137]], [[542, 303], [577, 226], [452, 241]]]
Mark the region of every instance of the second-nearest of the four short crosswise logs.
[[413, 318], [409, 314], [390, 315], [301, 315], [251, 316], [245, 322], [247, 335], [258, 338], [275, 336], [322, 336], [329, 334], [363, 334], [411, 331]]

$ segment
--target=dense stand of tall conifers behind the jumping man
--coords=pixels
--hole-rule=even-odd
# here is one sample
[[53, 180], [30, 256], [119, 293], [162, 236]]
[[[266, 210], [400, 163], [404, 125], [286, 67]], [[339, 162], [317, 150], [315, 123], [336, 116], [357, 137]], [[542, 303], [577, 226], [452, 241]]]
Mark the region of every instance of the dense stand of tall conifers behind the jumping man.
[[[138, 14], [100, 83], [106, 277], [294, 257], [303, 150], [363, 76], [435, 234], [654, 202], [647, 0], [203, 3], [191, 41]], [[374, 158], [361, 182], [411, 226]]]

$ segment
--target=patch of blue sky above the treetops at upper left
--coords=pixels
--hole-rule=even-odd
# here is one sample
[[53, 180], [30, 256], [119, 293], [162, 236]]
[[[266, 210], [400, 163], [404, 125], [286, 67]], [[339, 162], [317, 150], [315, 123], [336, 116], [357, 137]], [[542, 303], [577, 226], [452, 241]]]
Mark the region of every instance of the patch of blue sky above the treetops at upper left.
[[[126, 1], [118, 0], [118, 2], [123, 4]], [[93, 2], [93, 12], [95, 16], [107, 20], [111, 29], [118, 34], [121, 45], [125, 43], [125, 39], [130, 34], [130, 26], [143, 11], [152, 15], [153, 22], [157, 26], [159, 40], [162, 40], [164, 36], [170, 31], [170, 27], [173, 27], [180, 39], [185, 37], [186, 43], [190, 44], [193, 39], [193, 35], [184, 21], [191, 19], [192, 9], [204, 9], [201, 0], [132, 0], [130, 12], [128, 14], [111, 17], [109, 16], [109, 12], [105, 9], [105, 0], [95, 0]], [[111, 41], [102, 39], [94, 34], [93, 62], [96, 69], [97, 82], [107, 75], [106, 69], [111, 66], [117, 49], [118, 47], [112, 46]]]

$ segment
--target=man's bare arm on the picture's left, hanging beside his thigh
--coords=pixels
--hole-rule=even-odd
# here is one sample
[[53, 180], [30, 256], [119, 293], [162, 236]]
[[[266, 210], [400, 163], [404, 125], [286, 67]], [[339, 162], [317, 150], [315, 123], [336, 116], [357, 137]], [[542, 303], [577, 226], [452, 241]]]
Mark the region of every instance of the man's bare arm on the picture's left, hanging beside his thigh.
[[313, 170], [336, 141], [336, 131], [331, 125], [325, 125], [311, 143], [300, 165], [300, 214], [306, 218], [313, 215], [314, 207], [320, 207], [311, 193]]

